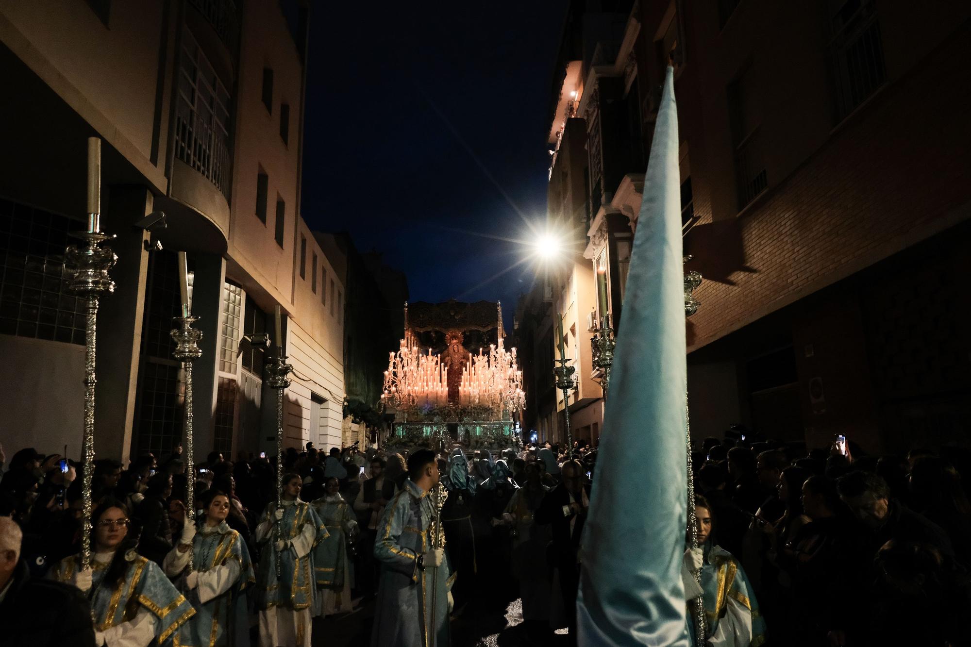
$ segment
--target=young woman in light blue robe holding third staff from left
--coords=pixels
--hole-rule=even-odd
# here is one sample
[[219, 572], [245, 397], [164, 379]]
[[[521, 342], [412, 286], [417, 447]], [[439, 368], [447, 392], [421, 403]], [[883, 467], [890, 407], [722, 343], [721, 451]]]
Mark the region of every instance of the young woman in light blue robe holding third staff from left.
[[316, 589], [312, 552], [327, 536], [327, 529], [310, 503], [300, 500], [302, 487], [299, 474], [286, 474], [283, 507], [270, 503], [256, 527], [256, 541], [263, 545], [256, 576], [261, 647], [310, 647]]

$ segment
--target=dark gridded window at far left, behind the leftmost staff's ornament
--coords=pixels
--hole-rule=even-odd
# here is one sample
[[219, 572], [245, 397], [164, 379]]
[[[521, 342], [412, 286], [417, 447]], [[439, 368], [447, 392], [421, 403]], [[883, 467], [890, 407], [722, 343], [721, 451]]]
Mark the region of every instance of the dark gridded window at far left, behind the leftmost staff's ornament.
[[67, 290], [73, 221], [0, 199], [0, 333], [84, 344], [84, 301]]

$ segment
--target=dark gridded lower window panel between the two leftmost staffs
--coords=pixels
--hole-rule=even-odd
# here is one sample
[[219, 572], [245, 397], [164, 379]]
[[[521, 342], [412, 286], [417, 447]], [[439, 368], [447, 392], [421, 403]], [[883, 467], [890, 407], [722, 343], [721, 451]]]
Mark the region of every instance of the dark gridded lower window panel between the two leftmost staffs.
[[138, 451], [170, 453], [182, 442], [183, 410], [179, 399], [179, 366], [173, 360], [146, 361], [138, 415]]

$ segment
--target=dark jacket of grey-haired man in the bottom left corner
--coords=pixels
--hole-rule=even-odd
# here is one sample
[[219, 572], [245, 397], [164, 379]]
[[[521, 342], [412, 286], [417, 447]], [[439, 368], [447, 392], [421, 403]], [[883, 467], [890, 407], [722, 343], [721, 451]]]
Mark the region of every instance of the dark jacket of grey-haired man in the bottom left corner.
[[0, 644], [94, 647], [91, 605], [69, 584], [32, 578], [20, 560], [0, 602]]

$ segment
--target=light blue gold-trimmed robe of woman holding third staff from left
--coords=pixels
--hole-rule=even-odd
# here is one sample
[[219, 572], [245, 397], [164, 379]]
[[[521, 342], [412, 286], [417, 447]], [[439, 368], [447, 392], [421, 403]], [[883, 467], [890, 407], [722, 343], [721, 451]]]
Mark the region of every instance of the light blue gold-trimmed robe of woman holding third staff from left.
[[[275, 522], [273, 516], [276, 504], [267, 506], [263, 514], [263, 522], [271, 526]], [[271, 522], [270, 520], [274, 520]], [[314, 508], [306, 501], [297, 500], [292, 505], [284, 506], [282, 539], [295, 539], [303, 531], [305, 525], [314, 528], [314, 546], [317, 546], [327, 536], [327, 529], [314, 512]], [[285, 606], [299, 611], [310, 608], [314, 601], [314, 551], [305, 557], [298, 558], [291, 548], [281, 554], [280, 579], [277, 579], [277, 551], [274, 548], [276, 537], [270, 532], [259, 557], [259, 571], [256, 575], [256, 607], [261, 610], [273, 606]]]

